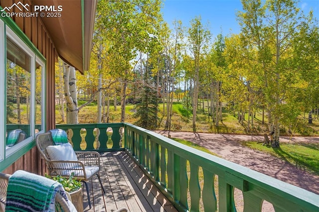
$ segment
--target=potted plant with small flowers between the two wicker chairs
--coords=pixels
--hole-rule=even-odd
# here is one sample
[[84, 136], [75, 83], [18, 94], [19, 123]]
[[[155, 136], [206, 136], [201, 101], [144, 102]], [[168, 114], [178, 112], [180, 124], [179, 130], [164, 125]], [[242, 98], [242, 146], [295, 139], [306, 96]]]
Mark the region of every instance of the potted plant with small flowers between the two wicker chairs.
[[45, 177], [61, 183], [64, 190], [70, 195], [72, 204], [76, 210], [78, 212], [83, 212], [82, 184], [80, 181], [76, 180], [73, 172], [68, 179], [59, 175], [52, 178], [46, 173]]

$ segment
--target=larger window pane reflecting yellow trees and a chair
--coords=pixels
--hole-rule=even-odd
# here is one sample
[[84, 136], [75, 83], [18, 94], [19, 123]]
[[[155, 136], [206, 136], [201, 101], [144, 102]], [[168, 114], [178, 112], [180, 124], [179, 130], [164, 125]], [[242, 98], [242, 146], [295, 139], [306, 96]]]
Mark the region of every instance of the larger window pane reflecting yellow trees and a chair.
[[[30, 136], [31, 57], [10, 38], [6, 37], [6, 129], [11, 138], [12, 130], [21, 129], [25, 135], [16, 142]], [[14, 131], [16, 132], [16, 131]], [[20, 131], [18, 131], [20, 132]], [[7, 137], [8, 142], [8, 137]], [[14, 144], [16, 142], [13, 142]]]

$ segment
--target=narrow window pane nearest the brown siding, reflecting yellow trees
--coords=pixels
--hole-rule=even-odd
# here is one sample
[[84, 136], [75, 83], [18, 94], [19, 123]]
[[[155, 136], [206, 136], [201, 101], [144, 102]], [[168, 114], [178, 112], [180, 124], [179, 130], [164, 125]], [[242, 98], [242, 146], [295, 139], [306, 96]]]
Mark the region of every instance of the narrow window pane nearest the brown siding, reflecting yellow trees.
[[42, 130], [42, 70], [43, 67], [36, 63], [35, 70], [35, 133]]

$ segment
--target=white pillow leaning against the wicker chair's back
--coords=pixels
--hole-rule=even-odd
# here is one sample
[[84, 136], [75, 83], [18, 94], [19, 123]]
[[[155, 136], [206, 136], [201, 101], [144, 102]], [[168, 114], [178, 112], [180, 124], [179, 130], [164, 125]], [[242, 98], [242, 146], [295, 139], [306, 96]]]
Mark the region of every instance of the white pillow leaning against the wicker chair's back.
[[[50, 160], [64, 160], [64, 161], [77, 161], [76, 154], [73, 150], [73, 147], [70, 143], [65, 143], [61, 145], [54, 145], [46, 147], [46, 151], [50, 157]], [[60, 163], [53, 164], [54, 168], [73, 168], [78, 166], [76, 163]]]

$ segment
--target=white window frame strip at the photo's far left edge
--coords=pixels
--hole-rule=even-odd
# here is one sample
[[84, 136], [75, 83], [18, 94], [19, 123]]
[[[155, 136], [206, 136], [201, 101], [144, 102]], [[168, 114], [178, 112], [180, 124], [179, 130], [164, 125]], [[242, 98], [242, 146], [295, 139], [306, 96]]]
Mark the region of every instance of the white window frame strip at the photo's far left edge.
[[[4, 23], [2, 20], [0, 20], [0, 73], [5, 73], [5, 63], [4, 63]], [[3, 48], [1, 48], [3, 46]], [[5, 100], [5, 77], [1, 77], [0, 79], [0, 100]], [[5, 114], [5, 101], [0, 104], [0, 114]], [[5, 116], [2, 115], [2, 123], [5, 123]], [[5, 130], [4, 126], [0, 127], [0, 139], [5, 141]], [[0, 161], [4, 159], [4, 150], [5, 150], [5, 142], [0, 142]]]

